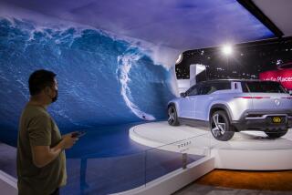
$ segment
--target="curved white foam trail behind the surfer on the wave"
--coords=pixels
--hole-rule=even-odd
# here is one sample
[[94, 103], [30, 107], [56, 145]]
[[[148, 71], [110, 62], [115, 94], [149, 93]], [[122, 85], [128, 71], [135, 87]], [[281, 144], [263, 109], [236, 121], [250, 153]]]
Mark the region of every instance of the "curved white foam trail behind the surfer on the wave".
[[154, 120], [155, 118], [151, 114], [147, 114], [130, 101], [131, 92], [128, 86], [130, 82], [130, 68], [133, 66], [133, 62], [141, 58], [140, 54], [125, 54], [123, 56], [118, 56], [118, 69], [116, 71], [118, 80], [120, 81], [121, 89], [120, 94], [123, 97], [127, 107], [138, 117], [144, 120]]

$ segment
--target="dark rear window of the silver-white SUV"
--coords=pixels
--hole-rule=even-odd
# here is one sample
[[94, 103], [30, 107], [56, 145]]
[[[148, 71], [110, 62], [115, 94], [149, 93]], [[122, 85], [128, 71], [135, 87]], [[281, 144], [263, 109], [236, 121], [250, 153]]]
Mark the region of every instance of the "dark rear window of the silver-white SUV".
[[245, 93], [287, 93], [281, 84], [269, 81], [248, 81], [242, 82]]

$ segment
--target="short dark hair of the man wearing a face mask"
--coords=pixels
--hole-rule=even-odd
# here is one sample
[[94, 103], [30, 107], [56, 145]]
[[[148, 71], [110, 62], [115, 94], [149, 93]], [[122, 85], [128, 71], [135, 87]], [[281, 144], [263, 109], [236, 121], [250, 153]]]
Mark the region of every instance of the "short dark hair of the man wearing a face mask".
[[31, 96], [39, 94], [45, 87], [54, 85], [56, 74], [48, 70], [36, 70], [28, 79], [29, 92]]

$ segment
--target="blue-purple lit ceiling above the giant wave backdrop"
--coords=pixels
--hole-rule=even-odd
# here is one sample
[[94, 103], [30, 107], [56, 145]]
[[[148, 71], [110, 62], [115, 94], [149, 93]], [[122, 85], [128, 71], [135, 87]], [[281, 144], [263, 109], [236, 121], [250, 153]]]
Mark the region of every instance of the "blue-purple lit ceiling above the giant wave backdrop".
[[[285, 19], [291, 2], [254, 1], [286, 36], [292, 32], [291, 20]], [[275, 37], [236, 0], [0, 0], [1, 4], [181, 51]]]

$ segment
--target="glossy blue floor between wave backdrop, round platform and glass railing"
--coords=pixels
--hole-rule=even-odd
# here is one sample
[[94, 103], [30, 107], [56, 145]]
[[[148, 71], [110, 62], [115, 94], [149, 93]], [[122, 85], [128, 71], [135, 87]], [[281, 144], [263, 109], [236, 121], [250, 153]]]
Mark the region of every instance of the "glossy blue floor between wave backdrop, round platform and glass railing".
[[112, 158], [150, 149], [129, 137], [129, 129], [139, 124], [141, 122], [84, 129], [87, 133], [78, 140], [74, 148], [68, 149], [67, 157], [69, 159]]

